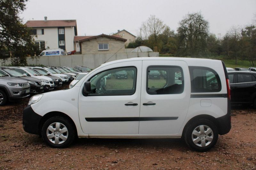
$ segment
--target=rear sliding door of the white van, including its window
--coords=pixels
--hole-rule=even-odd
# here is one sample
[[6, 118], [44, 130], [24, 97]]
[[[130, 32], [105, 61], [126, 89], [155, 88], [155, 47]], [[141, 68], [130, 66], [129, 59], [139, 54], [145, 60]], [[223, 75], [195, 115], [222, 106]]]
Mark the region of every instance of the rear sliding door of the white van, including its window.
[[177, 134], [187, 115], [189, 101], [190, 77], [186, 62], [143, 61], [140, 135]]

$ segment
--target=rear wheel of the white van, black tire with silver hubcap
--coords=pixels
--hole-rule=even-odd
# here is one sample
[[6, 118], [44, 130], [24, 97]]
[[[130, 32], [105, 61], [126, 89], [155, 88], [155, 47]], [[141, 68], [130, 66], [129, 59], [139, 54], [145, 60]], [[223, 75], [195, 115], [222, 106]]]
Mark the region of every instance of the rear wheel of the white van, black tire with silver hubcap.
[[208, 151], [217, 143], [218, 128], [207, 119], [191, 122], [184, 130], [185, 142], [196, 151]]

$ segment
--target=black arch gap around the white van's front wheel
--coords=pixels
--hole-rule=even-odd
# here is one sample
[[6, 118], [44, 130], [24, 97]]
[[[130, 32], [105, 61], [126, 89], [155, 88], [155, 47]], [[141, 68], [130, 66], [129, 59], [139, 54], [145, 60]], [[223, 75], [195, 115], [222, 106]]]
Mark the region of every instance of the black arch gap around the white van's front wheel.
[[[42, 128], [43, 128], [43, 125], [44, 125], [44, 122], [47, 121], [48, 119], [50, 119], [51, 117], [54, 117], [54, 116], [61, 116], [61, 117], [65, 117], [66, 119], [70, 120], [70, 122], [73, 124], [73, 126], [76, 127], [76, 124], [75, 122], [71, 119], [71, 117], [69, 117], [67, 114], [65, 113], [62, 113], [62, 112], [58, 112], [58, 111], [53, 111], [53, 112], [49, 112], [47, 114], [45, 114], [39, 124], [38, 124], [38, 132], [39, 134], [41, 135], [41, 131], [42, 131]], [[77, 136], [77, 128], [76, 129], [76, 136]]]

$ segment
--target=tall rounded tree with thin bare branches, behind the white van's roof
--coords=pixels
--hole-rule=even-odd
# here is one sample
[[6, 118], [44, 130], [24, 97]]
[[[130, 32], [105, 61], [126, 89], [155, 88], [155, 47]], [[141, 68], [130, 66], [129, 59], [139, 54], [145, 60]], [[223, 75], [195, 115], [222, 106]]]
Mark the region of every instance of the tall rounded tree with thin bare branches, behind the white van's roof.
[[205, 55], [207, 51], [207, 37], [209, 34], [209, 23], [204, 20], [201, 12], [188, 13], [179, 22], [178, 33], [178, 55], [197, 56]]

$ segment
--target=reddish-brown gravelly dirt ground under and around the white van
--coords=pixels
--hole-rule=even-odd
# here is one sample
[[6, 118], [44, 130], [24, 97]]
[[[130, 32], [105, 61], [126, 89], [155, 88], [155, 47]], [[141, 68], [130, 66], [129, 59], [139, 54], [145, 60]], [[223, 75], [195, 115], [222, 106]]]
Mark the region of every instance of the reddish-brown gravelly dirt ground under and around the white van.
[[0, 169], [204, 169], [256, 168], [256, 110], [232, 107], [231, 131], [208, 152], [181, 139], [78, 138], [65, 149], [47, 146], [26, 133], [22, 112], [28, 99], [0, 107]]

